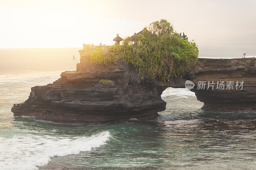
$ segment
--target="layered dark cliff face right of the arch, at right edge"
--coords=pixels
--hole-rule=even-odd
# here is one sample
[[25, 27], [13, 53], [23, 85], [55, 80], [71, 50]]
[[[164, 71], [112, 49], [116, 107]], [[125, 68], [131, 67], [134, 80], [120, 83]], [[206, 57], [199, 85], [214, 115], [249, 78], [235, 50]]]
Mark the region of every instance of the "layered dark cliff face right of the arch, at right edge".
[[[256, 58], [239, 59], [199, 59], [199, 66], [195, 72], [194, 91], [199, 101], [204, 102], [203, 110], [225, 112], [255, 112], [256, 111]], [[205, 89], [201, 89], [198, 81], [205, 81]], [[215, 83], [213, 89], [209, 82]], [[224, 81], [224, 89], [217, 88]], [[229, 82], [231, 81], [231, 82]], [[243, 88], [240, 86], [243, 81]], [[199, 82], [200, 83], [200, 82]], [[233, 85], [234, 83], [234, 85]], [[227, 86], [231, 84], [231, 88]], [[232, 89], [233, 85], [233, 89]], [[197, 87], [200, 87], [198, 89]]]

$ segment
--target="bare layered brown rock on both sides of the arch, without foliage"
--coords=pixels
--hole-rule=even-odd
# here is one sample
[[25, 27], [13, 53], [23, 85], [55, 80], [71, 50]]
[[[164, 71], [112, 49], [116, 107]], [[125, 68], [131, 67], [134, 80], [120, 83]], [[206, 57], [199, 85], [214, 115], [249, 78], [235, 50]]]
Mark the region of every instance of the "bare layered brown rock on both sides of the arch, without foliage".
[[[202, 109], [249, 112], [256, 111], [256, 59], [199, 59], [194, 79], [189, 76], [172, 83], [184, 87], [185, 80], [244, 81], [242, 90], [198, 90]], [[161, 99], [165, 88], [161, 82], [141, 77], [133, 66], [123, 63], [92, 65], [81, 55], [76, 71], [61, 73], [61, 78], [46, 86], [31, 88], [28, 100], [14, 104], [14, 116], [34, 116], [57, 122], [102, 122], [137, 118], [155, 120], [165, 110]], [[101, 83], [101, 79], [110, 80]]]

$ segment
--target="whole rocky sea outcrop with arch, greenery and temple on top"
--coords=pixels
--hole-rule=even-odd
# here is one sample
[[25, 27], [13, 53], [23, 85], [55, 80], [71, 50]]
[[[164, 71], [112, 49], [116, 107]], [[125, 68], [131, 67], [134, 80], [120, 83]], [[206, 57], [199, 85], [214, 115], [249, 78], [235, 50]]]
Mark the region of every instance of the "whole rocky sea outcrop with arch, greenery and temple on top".
[[[191, 91], [204, 102], [204, 110], [256, 111], [255, 58], [198, 59], [196, 44], [188, 42], [184, 33], [173, 32], [166, 20], [152, 24], [153, 28], [162, 24], [164, 30], [156, 35], [144, 29], [126, 38], [124, 45], [119, 45], [123, 39], [117, 35], [116, 45], [110, 48], [84, 44], [76, 71], [61, 73], [52, 84], [32, 87], [28, 100], [13, 105], [13, 115], [57, 122], [156, 120], [166, 106], [162, 92], [167, 87], [185, 88], [186, 80], [195, 84]], [[125, 57], [117, 57], [120, 51]], [[218, 88], [221, 81], [229, 82], [228, 88]], [[204, 88], [200, 82], [205, 83]], [[236, 82], [240, 83], [238, 89]]]

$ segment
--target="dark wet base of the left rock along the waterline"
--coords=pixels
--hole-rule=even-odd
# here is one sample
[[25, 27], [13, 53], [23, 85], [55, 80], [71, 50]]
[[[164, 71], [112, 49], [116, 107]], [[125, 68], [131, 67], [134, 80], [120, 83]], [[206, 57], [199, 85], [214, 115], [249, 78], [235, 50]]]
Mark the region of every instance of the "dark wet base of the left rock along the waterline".
[[[162, 106], [163, 107], [163, 106]], [[28, 109], [15, 106], [12, 107], [13, 116], [33, 116], [40, 120], [54, 121], [60, 123], [99, 123], [111, 120], [124, 120], [135, 118], [137, 120], [149, 121], [156, 120], [159, 114], [157, 112], [164, 111], [161, 108], [144, 109], [140, 111], [116, 112], [112, 114], [102, 113], [84, 113], [76, 110], [60, 110], [60, 109]]]

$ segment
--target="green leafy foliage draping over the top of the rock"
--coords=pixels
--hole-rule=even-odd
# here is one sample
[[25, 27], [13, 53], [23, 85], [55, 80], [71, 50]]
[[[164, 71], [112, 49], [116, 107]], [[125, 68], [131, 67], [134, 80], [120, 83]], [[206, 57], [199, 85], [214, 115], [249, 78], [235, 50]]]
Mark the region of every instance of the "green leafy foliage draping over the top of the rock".
[[124, 38], [123, 45], [113, 45], [105, 52], [97, 49], [91, 53], [91, 62], [108, 64], [123, 59], [134, 65], [138, 73], [170, 82], [173, 77], [191, 72], [198, 59], [194, 41], [188, 42], [174, 32], [165, 19], [151, 23], [140, 34]]

